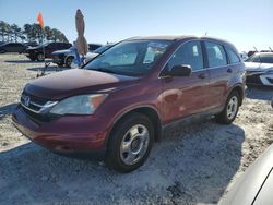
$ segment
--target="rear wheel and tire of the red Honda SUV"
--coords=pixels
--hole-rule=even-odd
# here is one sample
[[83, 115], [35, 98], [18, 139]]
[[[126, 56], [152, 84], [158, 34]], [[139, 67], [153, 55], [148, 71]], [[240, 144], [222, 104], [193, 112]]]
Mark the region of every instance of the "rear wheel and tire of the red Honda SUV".
[[222, 124], [230, 124], [239, 110], [240, 96], [234, 91], [229, 94], [224, 110], [216, 116], [216, 121]]

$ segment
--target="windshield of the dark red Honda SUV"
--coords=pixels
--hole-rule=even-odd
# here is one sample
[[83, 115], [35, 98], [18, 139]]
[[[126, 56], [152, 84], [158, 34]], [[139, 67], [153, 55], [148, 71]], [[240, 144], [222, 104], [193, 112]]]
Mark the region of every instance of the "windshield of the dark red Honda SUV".
[[99, 55], [84, 69], [132, 76], [144, 75], [169, 45], [169, 40], [122, 41]]

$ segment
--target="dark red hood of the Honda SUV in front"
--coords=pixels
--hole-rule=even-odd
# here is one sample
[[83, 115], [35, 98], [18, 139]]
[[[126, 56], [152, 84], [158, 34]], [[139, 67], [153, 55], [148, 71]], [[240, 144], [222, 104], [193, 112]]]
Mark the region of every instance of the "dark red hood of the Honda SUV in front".
[[25, 86], [29, 95], [59, 100], [69, 96], [117, 89], [120, 86], [136, 84], [139, 77], [71, 69], [49, 74]]

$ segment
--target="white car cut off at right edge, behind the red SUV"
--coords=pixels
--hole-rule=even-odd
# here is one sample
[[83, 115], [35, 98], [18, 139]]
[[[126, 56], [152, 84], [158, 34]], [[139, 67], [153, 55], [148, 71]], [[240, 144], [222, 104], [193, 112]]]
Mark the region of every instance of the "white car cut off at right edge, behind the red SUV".
[[273, 86], [273, 52], [257, 52], [245, 62], [247, 85]]

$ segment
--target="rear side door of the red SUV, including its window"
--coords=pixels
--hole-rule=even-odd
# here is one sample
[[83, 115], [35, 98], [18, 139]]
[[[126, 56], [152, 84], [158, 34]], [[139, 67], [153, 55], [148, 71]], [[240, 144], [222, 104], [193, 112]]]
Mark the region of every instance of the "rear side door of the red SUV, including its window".
[[210, 88], [204, 104], [206, 109], [213, 109], [225, 104], [225, 96], [228, 92], [228, 83], [233, 70], [228, 65], [227, 55], [223, 45], [205, 40], [203, 46], [210, 73]]

